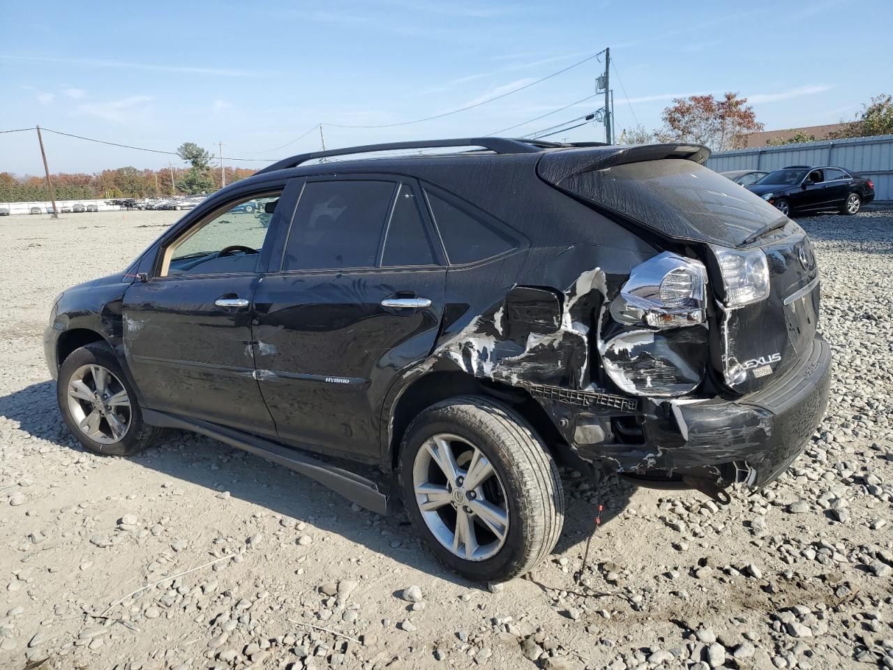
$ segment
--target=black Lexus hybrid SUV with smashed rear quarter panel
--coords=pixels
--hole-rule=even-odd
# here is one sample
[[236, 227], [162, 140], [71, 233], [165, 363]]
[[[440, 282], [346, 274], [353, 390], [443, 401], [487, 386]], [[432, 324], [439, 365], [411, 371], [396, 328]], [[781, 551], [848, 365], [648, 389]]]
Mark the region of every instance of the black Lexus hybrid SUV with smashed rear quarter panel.
[[708, 155], [471, 138], [275, 163], [55, 300], [65, 422], [100, 454], [183, 429], [401, 499], [480, 581], [554, 548], [556, 461], [764, 486], [827, 404], [819, 274]]

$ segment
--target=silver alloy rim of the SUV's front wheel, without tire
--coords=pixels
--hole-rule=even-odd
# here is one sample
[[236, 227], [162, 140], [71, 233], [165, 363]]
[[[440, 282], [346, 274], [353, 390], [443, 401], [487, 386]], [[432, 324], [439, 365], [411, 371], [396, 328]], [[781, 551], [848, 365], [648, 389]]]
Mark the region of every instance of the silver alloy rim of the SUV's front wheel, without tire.
[[71, 418], [90, 440], [114, 444], [130, 430], [130, 398], [121, 380], [98, 364], [81, 365], [66, 391]]

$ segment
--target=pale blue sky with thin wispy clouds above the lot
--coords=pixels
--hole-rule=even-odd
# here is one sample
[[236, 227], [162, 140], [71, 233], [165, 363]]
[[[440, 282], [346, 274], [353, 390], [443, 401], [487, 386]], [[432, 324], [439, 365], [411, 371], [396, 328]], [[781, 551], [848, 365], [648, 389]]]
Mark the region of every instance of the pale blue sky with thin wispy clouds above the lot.
[[[487, 100], [611, 47], [618, 134], [674, 96], [738, 91], [767, 130], [850, 118], [893, 93], [893, 4], [815, 2], [4, 4], [0, 130], [46, 128], [172, 151], [195, 141], [275, 160], [320, 147], [314, 124], [412, 121]], [[325, 126], [329, 147], [492, 133], [594, 93], [597, 60], [488, 105], [378, 129]], [[617, 76], [619, 74], [619, 77]], [[621, 85], [622, 82], [622, 85]], [[592, 112], [597, 98], [523, 125]], [[604, 138], [587, 125], [555, 139]], [[54, 172], [175, 156], [47, 134]], [[236, 162], [239, 163], [239, 162]], [[232, 164], [232, 163], [230, 163]], [[247, 163], [261, 166], [264, 163]], [[33, 133], [0, 135], [0, 171], [40, 173]]]

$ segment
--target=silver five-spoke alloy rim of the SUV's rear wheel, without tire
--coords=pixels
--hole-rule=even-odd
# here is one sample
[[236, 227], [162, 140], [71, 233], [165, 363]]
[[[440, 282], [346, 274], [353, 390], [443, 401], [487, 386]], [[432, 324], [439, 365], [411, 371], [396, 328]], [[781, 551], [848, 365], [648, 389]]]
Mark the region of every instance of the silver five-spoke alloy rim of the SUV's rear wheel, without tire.
[[483, 561], [508, 535], [505, 487], [487, 456], [470, 441], [438, 433], [413, 464], [415, 502], [431, 534], [455, 556]]

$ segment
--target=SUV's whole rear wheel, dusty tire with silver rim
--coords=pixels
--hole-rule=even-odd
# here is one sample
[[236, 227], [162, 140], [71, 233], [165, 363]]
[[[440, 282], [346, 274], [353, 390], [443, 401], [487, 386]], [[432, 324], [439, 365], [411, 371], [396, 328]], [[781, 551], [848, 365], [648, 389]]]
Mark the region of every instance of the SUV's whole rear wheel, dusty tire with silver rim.
[[400, 451], [406, 512], [441, 563], [477, 582], [530, 572], [564, 521], [558, 468], [521, 415], [481, 396], [421, 413]]

